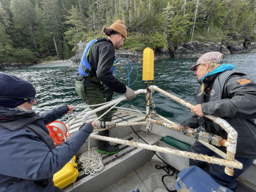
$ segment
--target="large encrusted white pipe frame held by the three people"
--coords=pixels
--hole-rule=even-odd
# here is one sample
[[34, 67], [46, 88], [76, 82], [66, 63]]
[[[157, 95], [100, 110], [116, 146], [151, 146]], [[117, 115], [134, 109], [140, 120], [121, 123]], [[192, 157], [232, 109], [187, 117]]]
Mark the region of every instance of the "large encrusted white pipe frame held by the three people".
[[[94, 132], [98, 132], [98, 131], [102, 131], [103, 129], [111, 129], [114, 127], [121, 127], [121, 126], [133, 126], [133, 125], [145, 125], [147, 129], [149, 129], [151, 127], [151, 124], [158, 124], [176, 131], [181, 132], [184, 135], [187, 135], [189, 137], [193, 137], [197, 140], [200, 140], [200, 142], [202, 144], [204, 144], [206, 147], [210, 148], [211, 150], [213, 150], [214, 152], [216, 152], [217, 154], [219, 154], [220, 156], [222, 156], [225, 159], [219, 159], [219, 158], [215, 158], [215, 157], [208, 157], [202, 154], [195, 154], [195, 153], [190, 153], [190, 152], [182, 152], [180, 150], [174, 150], [174, 149], [170, 149], [170, 148], [165, 148], [165, 147], [158, 147], [158, 146], [152, 146], [152, 145], [147, 145], [147, 144], [143, 144], [143, 143], [138, 143], [138, 142], [134, 142], [134, 141], [128, 141], [128, 140], [122, 140], [122, 139], [118, 139], [118, 138], [110, 138], [110, 137], [104, 137], [104, 136], [99, 136], [96, 134], [91, 134], [90, 137], [94, 138], [94, 139], [99, 139], [99, 140], [104, 140], [104, 141], [109, 141], [109, 142], [114, 142], [114, 143], [119, 143], [119, 144], [125, 144], [125, 145], [130, 145], [130, 146], [135, 146], [135, 147], [140, 147], [140, 148], [144, 148], [144, 149], [148, 149], [148, 150], [153, 150], [153, 151], [158, 151], [158, 152], [162, 152], [162, 153], [167, 153], [167, 154], [172, 154], [172, 155], [177, 155], [177, 156], [181, 156], [181, 157], [187, 157], [187, 158], [191, 158], [191, 159], [195, 159], [195, 160], [200, 160], [200, 161], [205, 161], [208, 163], [215, 163], [215, 164], [219, 164], [219, 165], [225, 165], [225, 173], [227, 175], [233, 176], [234, 174], [234, 170], [233, 168], [237, 168], [237, 169], [242, 169], [242, 164], [236, 160], [234, 160], [235, 157], [235, 152], [236, 152], [236, 144], [237, 144], [237, 132], [235, 131], [235, 129], [224, 119], [220, 118], [220, 117], [214, 117], [212, 115], [205, 115], [207, 118], [213, 120], [216, 124], [220, 125], [227, 133], [228, 133], [228, 139], [225, 140], [223, 138], [221, 138], [220, 136], [217, 135], [213, 135], [213, 134], [209, 134], [206, 132], [202, 132], [196, 129], [191, 129], [189, 127], [178, 127], [176, 123], [160, 116], [157, 115], [155, 113], [155, 104], [153, 102], [152, 99], [152, 93], [154, 93], [154, 91], [158, 91], [162, 94], [164, 94], [165, 96], [179, 102], [180, 104], [188, 107], [188, 108], [193, 108], [194, 105], [192, 105], [191, 103], [187, 102], [187, 101], [183, 101], [182, 99], [172, 95], [171, 93], [168, 93], [167, 91], [164, 91], [160, 88], [158, 88], [155, 85], [149, 86], [150, 84], [148, 84], [146, 89], [139, 89], [137, 91], [134, 91], [135, 94], [140, 94], [140, 93], [146, 93], [146, 121], [143, 122], [124, 122], [124, 123], [115, 123], [115, 122], [96, 122], [96, 125], [94, 127]], [[82, 123], [86, 122], [86, 119], [95, 114], [96, 112], [108, 108], [114, 104], [117, 104], [120, 101], [125, 100], [126, 97], [120, 97], [117, 100], [114, 100], [111, 103], [108, 103], [104, 106], [101, 106], [95, 110], [91, 110], [89, 112], [87, 112], [84, 117], [82, 118]], [[153, 107], [153, 111], [150, 112], [150, 103]], [[159, 120], [155, 120], [155, 116], [167, 121], [168, 123], [159, 121]], [[140, 118], [141, 119], [141, 118]], [[227, 147], [227, 154], [221, 152], [219, 149], [217, 149], [216, 147], [208, 144], [213, 144], [216, 146], [225, 146]]]

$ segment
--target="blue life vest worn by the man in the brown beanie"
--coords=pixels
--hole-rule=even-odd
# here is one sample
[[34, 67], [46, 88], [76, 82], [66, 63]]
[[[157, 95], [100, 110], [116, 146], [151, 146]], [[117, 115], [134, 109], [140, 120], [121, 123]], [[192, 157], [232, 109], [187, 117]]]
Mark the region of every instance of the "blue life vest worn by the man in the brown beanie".
[[[84, 83], [85, 87], [89, 87], [89, 84], [91, 82], [91, 76], [97, 77], [97, 75], [93, 72], [91, 72], [91, 65], [89, 64], [87, 57], [89, 55], [89, 52], [91, 50], [91, 48], [93, 47], [94, 44], [96, 44], [97, 42], [101, 41], [101, 40], [106, 40], [106, 41], [110, 41], [109, 39], [105, 38], [105, 37], [101, 37], [98, 39], [93, 39], [89, 42], [89, 44], [86, 46], [79, 68], [78, 68], [78, 73], [86, 80], [86, 83]], [[113, 73], [114, 68], [116, 67], [116, 63], [117, 63], [117, 59], [116, 56], [114, 57], [114, 63], [112, 68], [110, 69], [110, 72]], [[101, 82], [102, 85], [104, 85], [104, 83]]]

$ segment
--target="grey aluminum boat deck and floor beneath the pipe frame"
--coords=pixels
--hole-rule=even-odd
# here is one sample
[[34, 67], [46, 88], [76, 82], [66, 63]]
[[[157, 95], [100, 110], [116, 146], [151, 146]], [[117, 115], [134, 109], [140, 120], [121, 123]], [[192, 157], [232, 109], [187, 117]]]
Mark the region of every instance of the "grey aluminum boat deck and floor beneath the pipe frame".
[[[79, 129], [82, 117], [89, 110], [91, 109], [86, 108], [76, 117], [70, 119], [69, 134], [72, 135]], [[87, 119], [87, 121], [94, 121], [96, 118], [96, 115], [92, 115]], [[118, 109], [116, 112], [112, 113], [112, 121], [114, 122], [125, 122], [126, 120], [143, 121], [144, 118], [144, 114], [129, 111], [128, 109]], [[66, 121], [65, 124], [67, 125], [68, 122]], [[144, 143], [142, 139], [140, 139], [143, 138], [151, 145], [170, 147], [173, 149], [176, 148], [162, 142], [162, 136], [169, 135], [190, 145], [195, 142], [194, 138], [187, 137], [175, 130], [156, 124], [153, 124], [152, 131], [150, 133], [145, 126], [133, 126], [133, 129], [137, 132], [139, 137], [134, 134], [130, 126], [111, 129], [109, 136], [112, 138], [117, 137], [140, 143]], [[138, 188], [140, 192], [166, 192], [165, 187], [161, 182], [161, 177], [166, 173], [162, 169], [158, 170], [155, 168], [156, 164], [164, 164], [161, 163], [151, 150], [117, 143], [111, 144], [119, 146], [120, 151], [116, 154], [101, 155], [104, 168], [97, 175], [86, 175], [80, 168], [79, 176], [76, 181], [63, 188], [63, 190], [65, 192], [132, 192]], [[91, 138], [90, 146], [98, 146], [98, 140]], [[86, 148], [88, 148], [87, 141], [81, 147], [76, 157], [79, 157], [84, 153]], [[187, 158], [165, 153], [158, 153], [158, 155], [164, 161], [168, 162], [180, 171], [189, 167]], [[166, 177], [164, 181], [169, 189], [175, 189], [175, 175]], [[256, 161], [254, 161], [254, 164], [237, 179], [237, 183], [237, 192], [256, 192]]]

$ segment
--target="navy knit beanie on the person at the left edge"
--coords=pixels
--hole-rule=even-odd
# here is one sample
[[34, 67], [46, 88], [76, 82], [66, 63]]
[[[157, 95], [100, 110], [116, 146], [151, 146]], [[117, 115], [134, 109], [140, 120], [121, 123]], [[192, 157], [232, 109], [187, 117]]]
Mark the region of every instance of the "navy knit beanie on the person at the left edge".
[[[35, 94], [36, 90], [30, 82], [13, 75], [0, 73], [0, 96], [30, 98]], [[7, 108], [15, 108], [25, 102], [27, 101], [0, 97], [0, 106]]]

